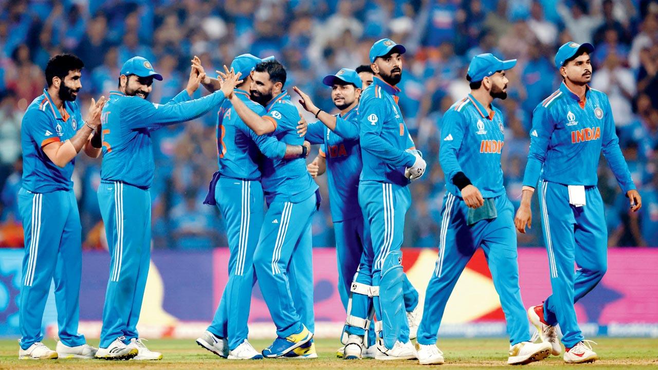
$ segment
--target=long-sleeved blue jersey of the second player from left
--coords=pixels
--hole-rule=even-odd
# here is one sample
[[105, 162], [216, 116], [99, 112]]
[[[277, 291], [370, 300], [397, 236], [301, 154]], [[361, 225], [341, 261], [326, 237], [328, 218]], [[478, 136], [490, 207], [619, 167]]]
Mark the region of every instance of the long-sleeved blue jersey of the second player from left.
[[225, 100], [221, 91], [201, 99], [190, 99], [188, 92], [183, 90], [169, 103], [160, 105], [138, 96], [110, 92], [101, 116], [101, 179], [150, 188], [155, 170], [151, 129], [196, 119]]

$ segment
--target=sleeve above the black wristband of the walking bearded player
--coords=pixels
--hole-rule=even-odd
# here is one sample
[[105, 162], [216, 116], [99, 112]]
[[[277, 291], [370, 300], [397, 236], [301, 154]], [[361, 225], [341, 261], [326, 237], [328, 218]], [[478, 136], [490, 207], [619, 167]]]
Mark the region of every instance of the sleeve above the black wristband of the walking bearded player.
[[452, 182], [457, 172], [463, 172], [457, 160], [457, 153], [464, 140], [464, 126], [464, 117], [454, 109], [449, 109], [443, 115], [441, 122], [443, 140], [439, 146], [439, 163], [445, 173], [446, 181]]

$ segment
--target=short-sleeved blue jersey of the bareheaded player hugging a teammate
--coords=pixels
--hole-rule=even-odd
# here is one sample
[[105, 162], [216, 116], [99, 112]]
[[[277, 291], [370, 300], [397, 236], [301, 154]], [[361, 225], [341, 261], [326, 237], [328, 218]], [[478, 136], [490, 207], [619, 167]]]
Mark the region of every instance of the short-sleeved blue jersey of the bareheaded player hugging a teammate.
[[[267, 103], [267, 113], [263, 116], [274, 124], [277, 140], [290, 145], [304, 144], [304, 138], [297, 134], [299, 111], [291, 103], [290, 95], [284, 90]], [[306, 159], [272, 159], [263, 161], [261, 184], [267, 203], [290, 201], [299, 203], [315, 193], [318, 186], [306, 169]]]

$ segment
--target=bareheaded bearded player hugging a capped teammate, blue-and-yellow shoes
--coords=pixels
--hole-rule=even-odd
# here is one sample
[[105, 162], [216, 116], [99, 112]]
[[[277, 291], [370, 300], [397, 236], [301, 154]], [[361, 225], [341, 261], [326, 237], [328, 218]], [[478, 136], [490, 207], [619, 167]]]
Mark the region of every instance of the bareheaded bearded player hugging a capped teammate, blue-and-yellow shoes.
[[[299, 112], [283, 89], [284, 66], [278, 61], [259, 63], [251, 78], [251, 98], [264, 105], [266, 113], [253, 111], [234, 93], [230, 102], [240, 119], [258, 135], [273, 134], [286, 144], [303, 144], [297, 134]], [[303, 150], [305, 157], [307, 147]], [[320, 204], [318, 186], [303, 158], [265, 159], [261, 174], [268, 210], [254, 268], [277, 334], [263, 356], [284, 357], [293, 352], [289, 357], [314, 358], [311, 220]]]

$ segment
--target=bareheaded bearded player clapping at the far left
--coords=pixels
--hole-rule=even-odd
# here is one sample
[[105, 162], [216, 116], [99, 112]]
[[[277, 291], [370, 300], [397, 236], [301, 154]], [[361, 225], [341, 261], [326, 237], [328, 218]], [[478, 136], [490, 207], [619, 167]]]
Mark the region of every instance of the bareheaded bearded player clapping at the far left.
[[[24, 167], [18, 207], [25, 256], [18, 300], [19, 359], [93, 358], [96, 353], [78, 333], [82, 226], [71, 175], [83, 148], [89, 157], [100, 155], [105, 97], [91, 99], [83, 120], [76, 102], [83, 67], [75, 55], [52, 57], [45, 68], [47, 88], [30, 103], [20, 128]], [[41, 319], [53, 278], [57, 352], [41, 343]]]

